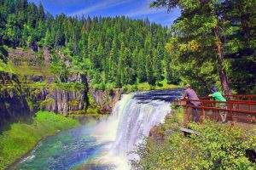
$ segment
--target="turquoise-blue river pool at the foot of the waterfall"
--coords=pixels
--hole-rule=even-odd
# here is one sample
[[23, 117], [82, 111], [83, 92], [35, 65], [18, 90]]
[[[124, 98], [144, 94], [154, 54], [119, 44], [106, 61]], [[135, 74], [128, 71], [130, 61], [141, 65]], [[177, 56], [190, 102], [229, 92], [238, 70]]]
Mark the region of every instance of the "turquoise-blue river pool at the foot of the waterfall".
[[84, 125], [44, 139], [14, 169], [109, 169], [96, 162], [106, 144], [96, 142], [90, 134], [93, 127], [95, 124]]

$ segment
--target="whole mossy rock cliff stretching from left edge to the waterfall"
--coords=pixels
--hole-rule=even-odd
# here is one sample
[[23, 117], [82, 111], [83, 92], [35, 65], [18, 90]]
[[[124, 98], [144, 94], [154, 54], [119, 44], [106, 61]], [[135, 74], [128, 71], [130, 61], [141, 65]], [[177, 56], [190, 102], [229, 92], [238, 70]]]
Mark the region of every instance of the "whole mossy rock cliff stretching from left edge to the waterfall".
[[63, 115], [97, 112], [94, 109], [111, 112], [121, 97], [121, 89], [107, 92], [89, 88], [86, 75], [80, 73], [69, 75], [67, 82], [55, 83], [55, 75], [49, 72], [52, 56], [47, 48], [41, 54], [10, 49], [3, 56], [12, 61], [15, 73], [0, 71], [0, 126], [39, 110]]

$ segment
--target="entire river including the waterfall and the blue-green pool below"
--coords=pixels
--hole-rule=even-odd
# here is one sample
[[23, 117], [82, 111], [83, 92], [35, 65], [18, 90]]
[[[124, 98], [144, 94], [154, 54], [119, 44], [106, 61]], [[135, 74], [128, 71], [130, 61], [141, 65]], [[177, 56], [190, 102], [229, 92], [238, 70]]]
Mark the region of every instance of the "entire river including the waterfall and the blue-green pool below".
[[42, 140], [13, 169], [130, 169], [131, 154], [154, 125], [164, 122], [179, 90], [124, 94], [101, 122], [62, 131]]

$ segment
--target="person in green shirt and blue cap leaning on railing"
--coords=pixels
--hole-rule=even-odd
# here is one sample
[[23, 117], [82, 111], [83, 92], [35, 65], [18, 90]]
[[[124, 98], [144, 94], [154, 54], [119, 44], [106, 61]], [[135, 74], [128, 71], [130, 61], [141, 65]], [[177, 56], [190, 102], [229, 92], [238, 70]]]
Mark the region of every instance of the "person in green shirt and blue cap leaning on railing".
[[[216, 101], [224, 101], [224, 102], [226, 101], [223, 95], [217, 92], [217, 88], [212, 88], [212, 93], [213, 94], [209, 94], [208, 96], [214, 98]], [[221, 109], [227, 109], [227, 105], [225, 103], [218, 103], [217, 107]], [[226, 111], [219, 111], [219, 115], [221, 116], [222, 122], [225, 123], [227, 120]]]

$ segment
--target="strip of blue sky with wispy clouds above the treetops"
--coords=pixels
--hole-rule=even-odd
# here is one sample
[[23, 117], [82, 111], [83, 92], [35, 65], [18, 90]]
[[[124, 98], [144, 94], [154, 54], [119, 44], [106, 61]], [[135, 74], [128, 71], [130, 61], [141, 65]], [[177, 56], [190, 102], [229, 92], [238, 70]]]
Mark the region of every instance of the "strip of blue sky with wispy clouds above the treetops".
[[[40, 0], [29, 0], [38, 4]], [[50, 14], [67, 14], [84, 16], [125, 15], [132, 19], [148, 19], [163, 26], [171, 26], [180, 15], [179, 9], [167, 14], [165, 8], [149, 8], [153, 0], [41, 0], [44, 10]]]

